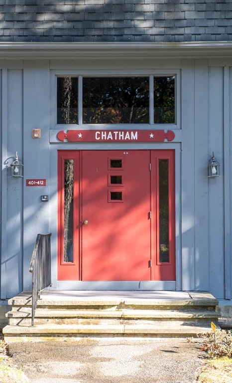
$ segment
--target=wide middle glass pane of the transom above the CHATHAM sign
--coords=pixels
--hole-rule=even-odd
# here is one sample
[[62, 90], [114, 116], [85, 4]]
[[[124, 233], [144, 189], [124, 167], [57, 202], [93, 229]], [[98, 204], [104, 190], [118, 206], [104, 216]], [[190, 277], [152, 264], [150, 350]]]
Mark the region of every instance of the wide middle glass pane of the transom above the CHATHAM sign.
[[149, 77], [84, 77], [84, 124], [149, 124]]

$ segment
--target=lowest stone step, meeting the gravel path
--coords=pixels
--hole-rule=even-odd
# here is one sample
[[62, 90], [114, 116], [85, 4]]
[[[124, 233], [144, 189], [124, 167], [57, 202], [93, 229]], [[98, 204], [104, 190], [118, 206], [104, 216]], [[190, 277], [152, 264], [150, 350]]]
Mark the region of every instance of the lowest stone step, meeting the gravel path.
[[6, 326], [4, 339], [6, 342], [25, 341], [65, 341], [68, 338], [97, 338], [97, 337], [196, 337], [210, 331], [205, 326], [162, 326], [162, 325], [36, 325]]

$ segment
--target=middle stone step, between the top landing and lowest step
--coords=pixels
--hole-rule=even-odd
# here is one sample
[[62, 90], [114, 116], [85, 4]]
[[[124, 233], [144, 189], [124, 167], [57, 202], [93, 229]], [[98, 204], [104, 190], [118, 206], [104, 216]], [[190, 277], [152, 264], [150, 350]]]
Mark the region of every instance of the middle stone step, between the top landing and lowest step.
[[[31, 310], [22, 307], [18, 310], [13, 309], [6, 313], [9, 325], [30, 326], [31, 324]], [[140, 323], [147, 321], [149, 323], [155, 322], [184, 322], [210, 323], [212, 320], [217, 321], [218, 314], [215, 311], [173, 311], [173, 310], [69, 310], [69, 309], [47, 309], [38, 308], [35, 312], [34, 323], [69, 323], [69, 324], [115, 324], [118, 322], [140, 321]]]

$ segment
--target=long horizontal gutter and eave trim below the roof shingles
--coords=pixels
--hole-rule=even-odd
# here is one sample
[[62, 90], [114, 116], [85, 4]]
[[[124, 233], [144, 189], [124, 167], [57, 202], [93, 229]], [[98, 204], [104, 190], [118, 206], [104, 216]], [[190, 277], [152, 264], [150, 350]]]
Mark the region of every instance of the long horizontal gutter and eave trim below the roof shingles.
[[0, 42], [0, 59], [232, 58], [232, 41]]

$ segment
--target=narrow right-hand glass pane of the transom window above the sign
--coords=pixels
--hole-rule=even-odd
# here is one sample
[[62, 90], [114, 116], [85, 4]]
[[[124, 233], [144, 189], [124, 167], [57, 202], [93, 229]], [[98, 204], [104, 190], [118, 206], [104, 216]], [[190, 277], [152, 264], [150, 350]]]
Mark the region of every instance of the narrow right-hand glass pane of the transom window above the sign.
[[175, 76], [154, 77], [154, 123], [175, 124]]

